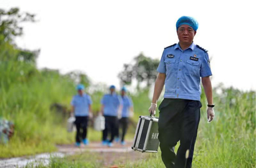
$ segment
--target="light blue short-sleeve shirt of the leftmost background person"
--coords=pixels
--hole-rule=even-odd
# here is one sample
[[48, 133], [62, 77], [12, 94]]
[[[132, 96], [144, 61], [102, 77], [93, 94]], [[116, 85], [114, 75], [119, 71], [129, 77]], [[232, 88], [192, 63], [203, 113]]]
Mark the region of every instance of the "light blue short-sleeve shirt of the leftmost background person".
[[76, 95], [71, 101], [71, 105], [74, 106], [75, 116], [88, 116], [89, 105], [92, 104], [91, 96], [83, 94], [82, 96]]

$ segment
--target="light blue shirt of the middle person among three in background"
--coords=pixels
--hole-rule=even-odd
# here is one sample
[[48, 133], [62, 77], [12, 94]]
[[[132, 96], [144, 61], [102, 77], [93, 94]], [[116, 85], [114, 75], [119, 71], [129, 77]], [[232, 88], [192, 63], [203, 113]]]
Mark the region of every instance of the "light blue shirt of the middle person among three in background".
[[101, 104], [104, 105], [103, 114], [105, 116], [117, 116], [119, 106], [122, 105], [122, 98], [117, 94], [105, 94]]

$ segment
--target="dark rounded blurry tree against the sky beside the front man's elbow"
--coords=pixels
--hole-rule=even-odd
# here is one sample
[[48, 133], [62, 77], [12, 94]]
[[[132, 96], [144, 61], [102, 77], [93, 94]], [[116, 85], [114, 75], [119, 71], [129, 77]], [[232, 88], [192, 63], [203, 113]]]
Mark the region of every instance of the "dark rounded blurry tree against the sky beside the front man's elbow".
[[124, 64], [124, 70], [118, 75], [121, 83], [130, 85], [132, 80], [136, 79], [138, 83], [145, 81], [147, 86], [150, 86], [156, 80], [159, 60], [146, 57], [141, 53], [134, 58], [134, 61], [134, 64]]

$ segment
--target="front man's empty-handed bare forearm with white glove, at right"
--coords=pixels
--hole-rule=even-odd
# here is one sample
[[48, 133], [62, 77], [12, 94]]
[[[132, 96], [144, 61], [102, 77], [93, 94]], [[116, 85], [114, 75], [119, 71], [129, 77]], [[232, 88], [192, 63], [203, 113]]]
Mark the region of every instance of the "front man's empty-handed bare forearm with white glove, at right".
[[[211, 87], [211, 79], [210, 76], [206, 76], [202, 78], [202, 85], [204, 87], [204, 92], [206, 95], [206, 99], [208, 102], [208, 105], [213, 105], [213, 96], [212, 96], [212, 87]], [[210, 123], [214, 118], [214, 110], [213, 107], [207, 108], [207, 120], [208, 123]]]

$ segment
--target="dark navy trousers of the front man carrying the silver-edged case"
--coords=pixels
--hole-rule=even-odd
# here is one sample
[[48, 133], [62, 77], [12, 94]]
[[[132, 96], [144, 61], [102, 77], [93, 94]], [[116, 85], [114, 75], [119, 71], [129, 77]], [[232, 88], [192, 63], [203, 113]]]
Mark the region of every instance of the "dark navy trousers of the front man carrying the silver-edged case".
[[[191, 168], [202, 104], [196, 100], [165, 98], [158, 120], [161, 158], [166, 168]], [[174, 147], [180, 140], [177, 154]], [[186, 151], [189, 157], [186, 159]]]

